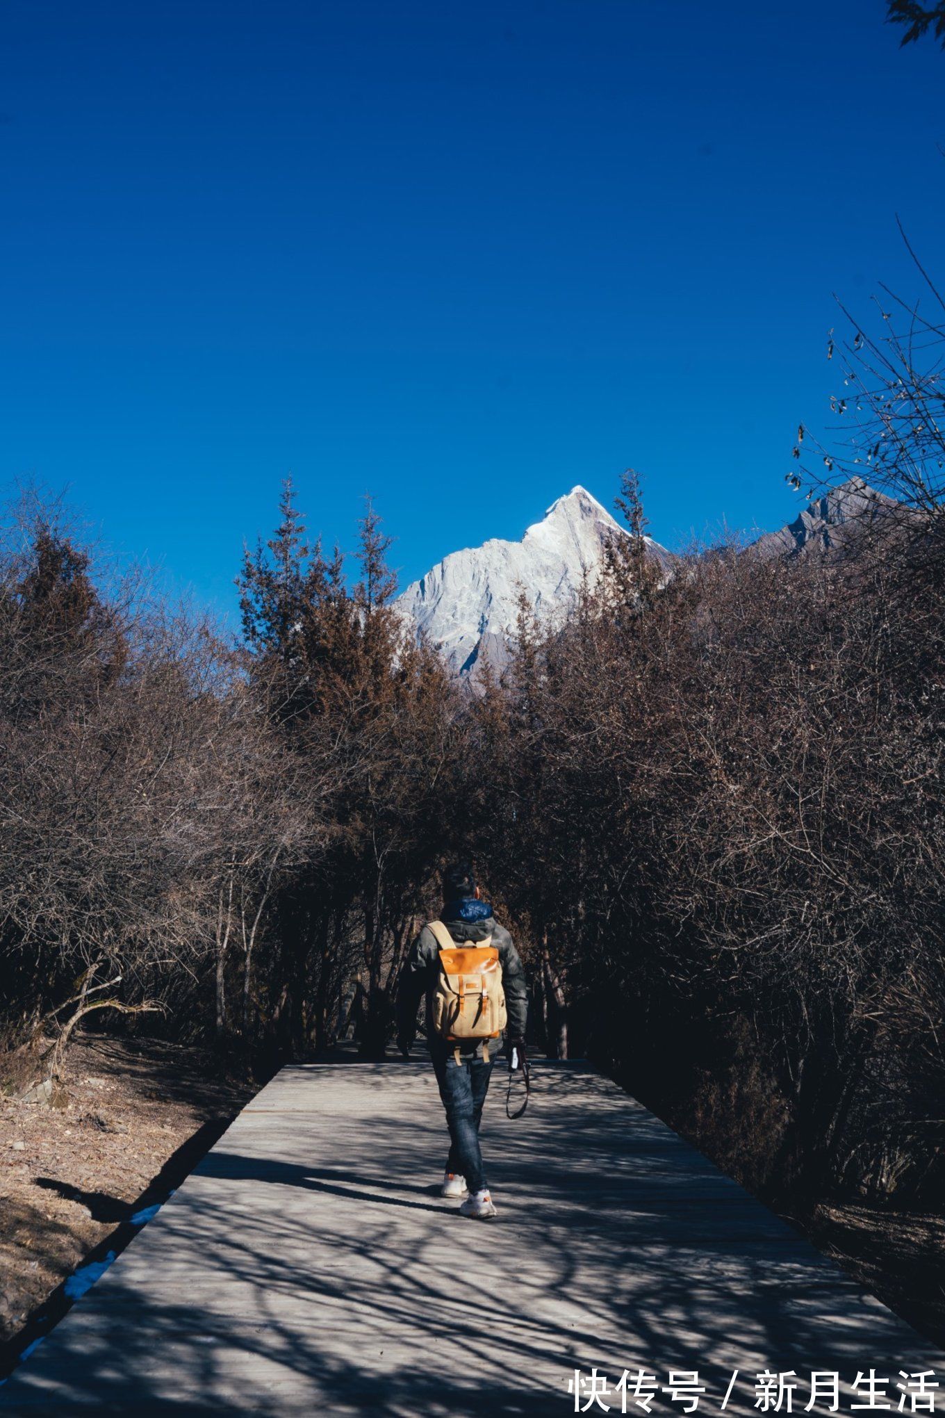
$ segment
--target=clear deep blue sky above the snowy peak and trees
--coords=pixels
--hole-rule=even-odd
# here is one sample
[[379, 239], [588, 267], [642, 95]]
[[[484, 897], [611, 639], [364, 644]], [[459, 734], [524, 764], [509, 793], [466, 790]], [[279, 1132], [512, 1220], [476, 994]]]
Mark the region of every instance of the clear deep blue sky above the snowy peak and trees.
[[[934, 265], [945, 54], [885, 0], [6, 0], [0, 481], [232, 605], [292, 474], [402, 580], [645, 476], [776, 526], [832, 292]], [[938, 267], [942, 275], [941, 264]]]

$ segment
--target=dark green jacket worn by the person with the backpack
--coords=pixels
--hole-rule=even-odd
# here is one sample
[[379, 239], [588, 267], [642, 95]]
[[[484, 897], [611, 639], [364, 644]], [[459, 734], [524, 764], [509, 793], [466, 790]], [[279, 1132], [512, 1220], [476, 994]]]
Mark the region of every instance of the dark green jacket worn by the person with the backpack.
[[[460, 912], [462, 915], [459, 915]], [[466, 919], [463, 919], [463, 916]], [[499, 963], [502, 964], [502, 988], [506, 995], [506, 1014], [509, 1015], [506, 1032], [511, 1039], [523, 1039], [528, 1014], [526, 973], [521, 967], [519, 951], [513, 946], [511, 936], [506, 927], [499, 925], [496, 917], [492, 915], [492, 909], [486, 906], [485, 902], [473, 899], [460, 902], [458, 908], [451, 910], [449, 915], [443, 915], [441, 919], [456, 944], [469, 942], [469, 944], [475, 946], [487, 936], [492, 936], [492, 943], [499, 951]], [[434, 1034], [431, 1024], [431, 998], [438, 974], [439, 946], [436, 944], [436, 937], [429, 926], [424, 926], [419, 936], [411, 946], [400, 981], [397, 995], [397, 1032], [400, 1041], [405, 1044], [414, 1042], [417, 1035], [417, 1007], [425, 994], [426, 1038], [434, 1048], [442, 1042]], [[492, 1039], [489, 1044], [489, 1052], [496, 1054], [500, 1044], [500, 1039]], [[443, 1048], [446, 1048], [445, 1044]], [[480, 1048], [482, 1045], [476, 1042], [476, 1039], [466, 1039], [460, 1044], [460, 1052], [463, 1054], [475, 1054]]]

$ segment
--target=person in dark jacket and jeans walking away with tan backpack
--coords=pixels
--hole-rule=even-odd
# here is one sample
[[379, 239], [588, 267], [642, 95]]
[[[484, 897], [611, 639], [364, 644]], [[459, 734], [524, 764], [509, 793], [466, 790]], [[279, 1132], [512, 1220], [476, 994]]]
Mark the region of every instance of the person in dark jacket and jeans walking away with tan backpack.
[[479, 1149], [479, 1122], [503, 1027], [510, 1056], [516, 1049], [520, 1066], [524, 1064], [528, 997], [519, 951], [492, 906], [480, 900], [468, 862], [443, 873], [442, 920], [424, 926], [404, 967], [397, 1035], [404, 1056], [417, 1035], [417, 1005], [424, 993], [426, 1038], [449, 1127], [441, 1194], [466, 1197], [459, 1208], [465, 1217], [494, 1217]]

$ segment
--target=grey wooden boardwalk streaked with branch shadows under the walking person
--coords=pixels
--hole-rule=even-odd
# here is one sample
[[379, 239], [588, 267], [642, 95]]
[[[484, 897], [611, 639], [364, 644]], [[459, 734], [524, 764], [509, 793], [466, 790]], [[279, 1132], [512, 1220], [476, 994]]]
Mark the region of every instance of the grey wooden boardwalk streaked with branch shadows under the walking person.
[[[592, 1366], [612, 1383], [697, 1370], [698, 1412], [732, 1370], [735, 1414], [758, 1411], [762, 1370], [932, 1368], [945, 1388], [929, 1344], [615, 1085], [540, 1064], [507, 1122], [502, 1082], [483, 1126], [500, 1215], [476, 1224], [435, 1191], [426, 1064], [285, 1068], [0, 1414], [567, 1415]], [[686, 1405], [657, 1392], [650, 1411]]]

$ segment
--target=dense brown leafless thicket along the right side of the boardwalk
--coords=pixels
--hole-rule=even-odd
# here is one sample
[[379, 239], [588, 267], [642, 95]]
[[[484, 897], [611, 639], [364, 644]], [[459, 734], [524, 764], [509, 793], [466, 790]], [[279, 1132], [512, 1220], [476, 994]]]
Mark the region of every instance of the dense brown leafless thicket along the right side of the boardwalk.
[[476, 709], [492, 871], [587, 1048], [745, 1181], [931, 1188], [941, 597], [734, 549], [660, 588], [639, 547]]

